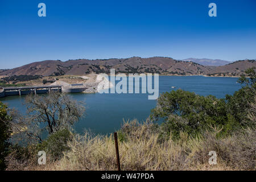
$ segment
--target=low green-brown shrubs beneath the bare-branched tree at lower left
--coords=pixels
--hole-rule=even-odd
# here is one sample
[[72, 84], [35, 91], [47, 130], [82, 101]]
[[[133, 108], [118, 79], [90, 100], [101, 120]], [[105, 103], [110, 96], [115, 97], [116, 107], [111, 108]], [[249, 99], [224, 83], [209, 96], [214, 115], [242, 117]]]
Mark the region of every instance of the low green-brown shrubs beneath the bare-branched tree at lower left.
[[46, 162], [51, 163], [63, 156], [70, 148], [67, 142], [72, 139], [72, 134], [67, 129], [56, 131], [50, 135], [43, 143], [28, 144], [20, 146], [18, 144], [9, 147], [9, 154], [6, 156], [6, 170], [29, 170], [38, 167], [38, 152], [46, 152]]

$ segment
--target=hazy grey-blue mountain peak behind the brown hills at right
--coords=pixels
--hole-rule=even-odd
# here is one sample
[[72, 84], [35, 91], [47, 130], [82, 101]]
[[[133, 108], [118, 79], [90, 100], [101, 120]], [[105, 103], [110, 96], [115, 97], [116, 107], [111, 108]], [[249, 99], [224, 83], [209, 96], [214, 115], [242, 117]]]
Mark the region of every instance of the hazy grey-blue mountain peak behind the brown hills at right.
[[231, 63], [230, 61], [220, 60], [220, 59], [196, 59], [196, 58], [188, 58], [183, 61], [193, 61], [197, 64], [201, 64], [204, 66], [222, 66]]

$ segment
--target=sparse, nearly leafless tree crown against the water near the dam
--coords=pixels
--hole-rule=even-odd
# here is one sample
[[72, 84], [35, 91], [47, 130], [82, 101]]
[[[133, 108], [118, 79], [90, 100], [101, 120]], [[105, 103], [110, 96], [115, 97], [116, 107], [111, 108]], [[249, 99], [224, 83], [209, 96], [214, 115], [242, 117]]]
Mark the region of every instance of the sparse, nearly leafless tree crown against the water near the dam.
[[26, 105], [28, 119], [35, 123], [46, 123], [43, 129], [49, 134], [69, 129], [82, 117], [85, 110], [82, 103], [59, 92], [51, 92], [46, 96], [31, 94], [26, 97]]

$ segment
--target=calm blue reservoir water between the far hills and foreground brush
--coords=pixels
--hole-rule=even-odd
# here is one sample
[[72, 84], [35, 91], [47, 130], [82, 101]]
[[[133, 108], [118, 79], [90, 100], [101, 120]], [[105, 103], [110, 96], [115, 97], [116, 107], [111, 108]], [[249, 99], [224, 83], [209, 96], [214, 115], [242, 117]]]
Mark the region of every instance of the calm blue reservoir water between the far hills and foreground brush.
[[[127, 79], [128, 80], [128, 79]], [[183, 89], [201, 96], [213, 95], [218, 98], [233, 94], [241, 88], [237, 78], [203, 77], [203, 76], [159, 76], [159, 93]], [[172, 89], [171, 86], [176, 86]], [[86, 111], [84, 118], [75, 124], [75, 130], [83, 133], [90, 129], [97, 134], [108, 134], [118, 130], [123, 119], [137, 118], [145, 121], [150, 110], [156, 106], [156, 100], [148, 100], [148, 94], [69, 94], [77, 101], [84, 101]], [[26, 96], [10, 96], [0, 100], [9, 107], [15, 107], [26, 113], [23, 105]]]

